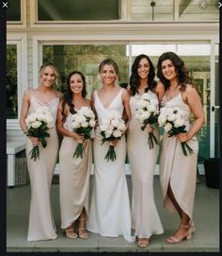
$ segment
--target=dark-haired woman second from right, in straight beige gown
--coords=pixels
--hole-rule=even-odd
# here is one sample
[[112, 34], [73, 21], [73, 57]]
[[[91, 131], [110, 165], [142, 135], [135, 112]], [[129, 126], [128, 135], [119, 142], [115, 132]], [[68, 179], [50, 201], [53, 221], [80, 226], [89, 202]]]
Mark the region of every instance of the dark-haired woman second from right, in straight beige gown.
[[[150, 148], [149, 131], [159, 141], [158, 128], [141, 130], [141, 123], [135, 119], [135, 110], [141, 95], [147, 93], [150, 99], [160, 101], [165, 94], [164, 85], [154, 80], [155, 71], [151, 59], [144, 54], [135, 58], [130, 77], [130, 107], [132, 119], [127, 133], [127, 152], [132, 173], [132, 223], [137, 236], [138, 247], [147, 247], [152, 234], [163, 233], [153, 196], [153, 172], [157, 161], [159, 145]], [[141, 164], [142, 163], [142, 164]]]

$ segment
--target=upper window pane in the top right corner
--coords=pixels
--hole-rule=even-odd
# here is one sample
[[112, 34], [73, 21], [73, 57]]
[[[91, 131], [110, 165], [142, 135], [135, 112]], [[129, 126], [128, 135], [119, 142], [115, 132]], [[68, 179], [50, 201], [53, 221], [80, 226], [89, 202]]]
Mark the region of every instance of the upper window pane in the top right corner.
[[181, 21], [219, 21], [218, 1], [182, 0], [179, 7], [179, 19]]

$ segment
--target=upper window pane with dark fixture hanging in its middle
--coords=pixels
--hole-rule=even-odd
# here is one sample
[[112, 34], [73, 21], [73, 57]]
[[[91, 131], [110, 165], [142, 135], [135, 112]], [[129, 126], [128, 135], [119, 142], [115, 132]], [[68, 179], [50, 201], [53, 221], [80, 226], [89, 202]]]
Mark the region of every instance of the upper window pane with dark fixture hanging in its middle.
[[173, 0], [131, 0], [131, 19], [147, 21], [172, 21]]

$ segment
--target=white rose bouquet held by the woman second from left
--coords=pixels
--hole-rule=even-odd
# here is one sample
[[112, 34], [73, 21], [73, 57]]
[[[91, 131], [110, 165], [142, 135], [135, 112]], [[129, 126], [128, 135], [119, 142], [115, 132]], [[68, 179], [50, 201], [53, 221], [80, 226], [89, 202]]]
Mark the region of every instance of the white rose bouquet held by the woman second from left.
[[[84, 135], [85, 139], [90, 139], [90, 131], [96, 125], [95, 114], [89, 107], [82, 107], [77, 113], [72, 115], [71, 128], [77, 134]], [[84, 146], [79, 143], [74, 151], [73, 158], [83, 158]]]

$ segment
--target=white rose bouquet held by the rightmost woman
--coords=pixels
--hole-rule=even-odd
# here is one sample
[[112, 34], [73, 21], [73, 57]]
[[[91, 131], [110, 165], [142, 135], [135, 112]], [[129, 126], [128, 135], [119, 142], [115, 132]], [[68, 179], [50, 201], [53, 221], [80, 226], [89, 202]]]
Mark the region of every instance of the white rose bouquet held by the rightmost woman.
[[[160, 127], [165, 128], [169, 137], [186, 132], [182, 113], [182, 110], [178, 107], [164, 107], [160, 110], [158, 123]], [[193, 149], [186, 142], [182, 142], [181, 145], [184, 156], [187, 156], [186, 150], [188, 150], [190, 155], [194, 153]]]

